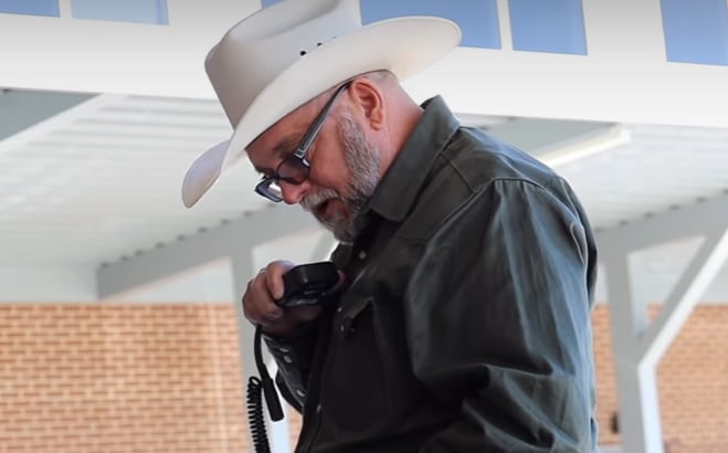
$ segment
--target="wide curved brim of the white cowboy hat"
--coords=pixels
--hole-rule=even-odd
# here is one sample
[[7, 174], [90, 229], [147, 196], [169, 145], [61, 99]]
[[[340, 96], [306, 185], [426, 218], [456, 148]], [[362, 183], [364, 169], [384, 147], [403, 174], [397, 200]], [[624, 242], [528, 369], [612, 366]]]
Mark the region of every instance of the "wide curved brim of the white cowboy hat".
[[460, 28], [446, 19], [395, 18], [337, 36], [302, 56], [261, 91], [229, 140], [192, 164], [182, 183], [184, 206], [194, 206], [259, 135], [306, 102], [371, 71], [388, 70], [402, 81], [442, 59], [460, 39]]

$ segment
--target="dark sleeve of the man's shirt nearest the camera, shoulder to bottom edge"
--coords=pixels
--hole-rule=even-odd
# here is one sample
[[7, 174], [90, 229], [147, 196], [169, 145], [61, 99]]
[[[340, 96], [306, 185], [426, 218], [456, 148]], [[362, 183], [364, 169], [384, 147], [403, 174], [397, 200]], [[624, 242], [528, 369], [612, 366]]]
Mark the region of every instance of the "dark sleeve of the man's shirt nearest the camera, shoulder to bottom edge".
[[595, 251], [574, 206], [499, 180], [431, 239], [408, 287], [408, 341], [415, 376], [460, 417], [422, 452], [595, 451]]

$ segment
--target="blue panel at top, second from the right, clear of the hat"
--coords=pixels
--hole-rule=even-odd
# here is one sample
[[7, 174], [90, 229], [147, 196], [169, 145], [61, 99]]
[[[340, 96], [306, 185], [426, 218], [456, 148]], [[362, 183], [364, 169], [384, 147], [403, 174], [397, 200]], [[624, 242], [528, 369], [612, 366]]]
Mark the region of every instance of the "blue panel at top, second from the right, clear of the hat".
[[509, 0], [508, 6], [515, 50], [587, 54], [581, 0]]

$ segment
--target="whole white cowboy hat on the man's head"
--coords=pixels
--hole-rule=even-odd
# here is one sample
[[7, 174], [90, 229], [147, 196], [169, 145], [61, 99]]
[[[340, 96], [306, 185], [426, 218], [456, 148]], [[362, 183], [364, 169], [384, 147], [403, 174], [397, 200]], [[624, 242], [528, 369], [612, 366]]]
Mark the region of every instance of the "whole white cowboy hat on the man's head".
[[277, 120], [356, 75], [389, 70], [403, 80], [461, 38], [457, 25], [407, 17], [361, 25], [358, 0], [284, 0], [235, 24], [210, 51], [205, 70], [234, 131], [187, 171], [191, 208]]

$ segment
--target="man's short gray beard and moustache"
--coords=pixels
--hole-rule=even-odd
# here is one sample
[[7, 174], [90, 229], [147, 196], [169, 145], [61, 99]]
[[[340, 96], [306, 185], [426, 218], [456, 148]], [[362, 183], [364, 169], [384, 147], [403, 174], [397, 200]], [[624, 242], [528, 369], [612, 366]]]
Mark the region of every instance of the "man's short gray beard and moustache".
[[354, 120], [349, 112], [340, 112], [337, 116], [345, 159], [351, 175], [348, 187], [350, 194], [345, 198], [336, 190], [324, 189], [308, 194], [300, 206], [312, 212], [314, 207], [323, 201], [341, 200], [349, 213], [348, 218], [334, 217], [328, 220], [316, 218], [316, 220], [331, 231], [337, 240], [354, 242], [366, 224], [363, 214], [379, 183], [379, 149], [367, 141], [361, 126]]

